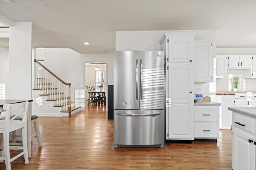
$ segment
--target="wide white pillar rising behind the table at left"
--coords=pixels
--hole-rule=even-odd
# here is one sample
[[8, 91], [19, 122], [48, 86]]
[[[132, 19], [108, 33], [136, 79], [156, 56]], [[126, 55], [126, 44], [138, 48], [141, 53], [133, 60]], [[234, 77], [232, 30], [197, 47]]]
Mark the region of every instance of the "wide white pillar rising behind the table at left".
[[9, 83], [6, 99], [32, 98], [32, 23], [16, 22], [9, 33]]

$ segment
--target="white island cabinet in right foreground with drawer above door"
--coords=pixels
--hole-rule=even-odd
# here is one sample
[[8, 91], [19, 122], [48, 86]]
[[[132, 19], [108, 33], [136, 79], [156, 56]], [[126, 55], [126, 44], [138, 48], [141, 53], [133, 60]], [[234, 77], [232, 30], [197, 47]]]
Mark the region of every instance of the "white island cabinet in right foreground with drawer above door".
[[232, 170], [255, 170], [256, 119], [233, 112]]

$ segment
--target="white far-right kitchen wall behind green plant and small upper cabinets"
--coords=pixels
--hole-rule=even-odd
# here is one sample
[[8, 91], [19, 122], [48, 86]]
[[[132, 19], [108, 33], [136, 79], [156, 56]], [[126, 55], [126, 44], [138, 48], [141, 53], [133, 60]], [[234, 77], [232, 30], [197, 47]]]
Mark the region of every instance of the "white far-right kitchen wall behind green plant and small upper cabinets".
[[[216, 55], [256, 55], [256, 48], [217, 48]], [[238, 76], [240, 91], [256, 91], [256, 78], [244, 78], [243, 69], [228, 69], [225, 78], [216, 78], [216, 91], [230, 90], [230, 78]]]

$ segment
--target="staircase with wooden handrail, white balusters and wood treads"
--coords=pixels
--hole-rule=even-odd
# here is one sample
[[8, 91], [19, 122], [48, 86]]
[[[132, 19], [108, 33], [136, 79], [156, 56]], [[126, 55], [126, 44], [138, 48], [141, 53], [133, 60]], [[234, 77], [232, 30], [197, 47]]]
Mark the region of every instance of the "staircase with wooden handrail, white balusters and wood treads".
[[81, 106], [76, 107], [71, 102], [70, 83], [64, 82], [42, 63], [43, 60], [34, 60], [34, 88], [38, 96], [49, 102], [52, 107], [58, 107], [60, 115], [71, 116], [80, 111]]

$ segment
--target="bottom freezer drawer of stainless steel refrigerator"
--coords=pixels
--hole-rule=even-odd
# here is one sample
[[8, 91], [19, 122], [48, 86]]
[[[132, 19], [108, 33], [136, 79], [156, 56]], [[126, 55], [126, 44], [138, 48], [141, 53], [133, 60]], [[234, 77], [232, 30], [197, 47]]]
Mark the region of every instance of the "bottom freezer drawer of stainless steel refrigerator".
[[114, 148], [164, 148], [164, 110], [114, 110]]

